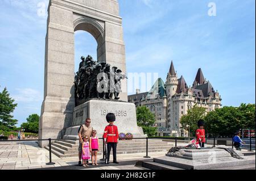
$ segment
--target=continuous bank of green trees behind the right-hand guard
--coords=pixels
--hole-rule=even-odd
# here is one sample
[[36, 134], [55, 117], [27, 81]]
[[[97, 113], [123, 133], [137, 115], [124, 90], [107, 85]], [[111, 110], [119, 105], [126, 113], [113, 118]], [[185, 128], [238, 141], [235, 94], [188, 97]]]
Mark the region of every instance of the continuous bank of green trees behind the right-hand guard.
[[240, 107], [224, 106], [216, 108], [205, 115], [205, 108], [194, 106], [180, 119], [181, 128], [195, 133], [197, 121], [205, 121], [205, 131], [216, 136], [233, 136], [239, 129], [255, 129], [255, 104], [244, 104]]

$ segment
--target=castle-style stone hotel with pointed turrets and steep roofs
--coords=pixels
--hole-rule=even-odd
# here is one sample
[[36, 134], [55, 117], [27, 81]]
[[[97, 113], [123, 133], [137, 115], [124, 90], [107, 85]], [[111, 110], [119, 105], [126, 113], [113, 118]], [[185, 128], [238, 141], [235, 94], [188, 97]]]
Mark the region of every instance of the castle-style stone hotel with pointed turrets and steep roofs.
[[188, 136], [181, 129], [180, 118], [195, 104], [204, 107], [207, 112], [221, 107], [221, 96], [206, 81], [203, 71], [199, 69], [192, 86], [188, 86], [184, 77], [177, 78], [174, 64], [171, 62], [166, 83], [158, 78], [148, 92], [129, 95], [128, 101], [136, 107], [146, 106], [155, 114], [158, 136]]

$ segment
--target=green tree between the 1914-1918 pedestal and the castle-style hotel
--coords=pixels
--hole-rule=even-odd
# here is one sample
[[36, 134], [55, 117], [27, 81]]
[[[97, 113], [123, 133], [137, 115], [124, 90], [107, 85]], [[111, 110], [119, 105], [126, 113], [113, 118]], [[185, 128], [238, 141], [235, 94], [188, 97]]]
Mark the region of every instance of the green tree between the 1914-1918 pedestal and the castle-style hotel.
[[155, 123], [155, 115], [150, 112], [146, 106], [137, 107], [137, 124], [142, 127], [143, 132], [148, 136], [155, 136], [156, 128], [153, 127]]

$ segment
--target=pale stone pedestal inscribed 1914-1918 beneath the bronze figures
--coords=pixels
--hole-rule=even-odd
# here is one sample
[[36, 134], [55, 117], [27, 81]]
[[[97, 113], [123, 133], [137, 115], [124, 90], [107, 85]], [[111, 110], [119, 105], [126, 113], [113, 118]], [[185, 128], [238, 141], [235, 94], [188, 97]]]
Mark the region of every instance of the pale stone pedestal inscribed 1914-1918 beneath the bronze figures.
[[66, 128], [64, 138], [78, 138], [78, 129], [85, 119], [90, 117], [93, 129], [96, 129], [97, 136], [102, 137], [108, 122], [106, 115], [109, 112], [115, 114], [115, 125], [118, 132], [132, 133], [134, 137], [146, 137], [142, 128], [138, 127], [136, 119], [135, 104], [127, 102], [116, 102], [110, 100], [89, 100], [74, 108], [72, 126]]

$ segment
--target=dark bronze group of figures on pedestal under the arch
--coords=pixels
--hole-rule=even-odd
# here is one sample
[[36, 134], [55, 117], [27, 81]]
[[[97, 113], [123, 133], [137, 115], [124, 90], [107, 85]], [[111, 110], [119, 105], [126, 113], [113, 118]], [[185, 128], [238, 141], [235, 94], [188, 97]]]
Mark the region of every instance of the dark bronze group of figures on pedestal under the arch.
[[127, 78], [122, 70], [106, 62], [94, 61], [91, 56], [81, 57], [79, 71], [75, 74], [75, 99], [92, 98], [118, 100], [121, 79]]

